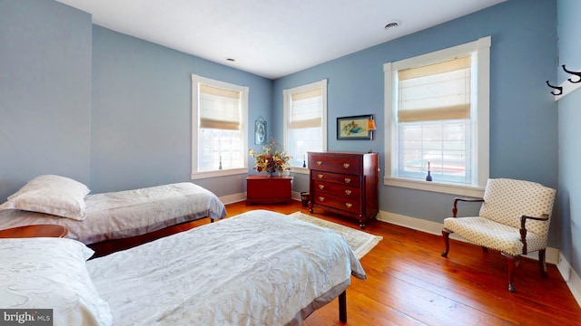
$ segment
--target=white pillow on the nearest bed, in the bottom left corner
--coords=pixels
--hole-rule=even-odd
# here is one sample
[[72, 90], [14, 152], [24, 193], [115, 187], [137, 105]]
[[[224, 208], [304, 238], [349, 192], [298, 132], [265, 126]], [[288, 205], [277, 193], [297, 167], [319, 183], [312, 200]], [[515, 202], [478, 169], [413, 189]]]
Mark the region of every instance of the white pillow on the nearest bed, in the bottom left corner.
[[92, 254], [67, 238], [0, 239], [0, 307], [53, 309], [54, 325], [112, 325], [86, 269]]

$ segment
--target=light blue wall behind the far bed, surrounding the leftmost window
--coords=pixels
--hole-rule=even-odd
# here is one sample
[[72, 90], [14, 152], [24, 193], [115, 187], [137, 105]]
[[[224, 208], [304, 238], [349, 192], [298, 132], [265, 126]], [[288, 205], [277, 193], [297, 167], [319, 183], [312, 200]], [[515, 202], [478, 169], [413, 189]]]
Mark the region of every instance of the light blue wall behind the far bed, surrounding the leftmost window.
[[[270, 120], [271, 80], [94, 25], [94, 192], [191, 181], [192, 73], [248, 86], [251, 128]], [[244, 177], [194, 182], [224, 196], [243, 193]]]

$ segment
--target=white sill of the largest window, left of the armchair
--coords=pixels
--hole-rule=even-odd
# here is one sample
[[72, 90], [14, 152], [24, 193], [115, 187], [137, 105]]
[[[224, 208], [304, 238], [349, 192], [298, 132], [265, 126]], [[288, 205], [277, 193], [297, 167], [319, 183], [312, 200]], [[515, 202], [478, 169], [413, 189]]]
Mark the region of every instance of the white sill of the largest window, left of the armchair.
[[450, 194], [456, 196], [478, 197], [484, 196], [484, 187], [469, 187], [443, 184], [433, 181], [416, 181], [399, 177], [383, 177], [383, 185], [393, 187], [406, 187], [410, 189], [425, 190]]

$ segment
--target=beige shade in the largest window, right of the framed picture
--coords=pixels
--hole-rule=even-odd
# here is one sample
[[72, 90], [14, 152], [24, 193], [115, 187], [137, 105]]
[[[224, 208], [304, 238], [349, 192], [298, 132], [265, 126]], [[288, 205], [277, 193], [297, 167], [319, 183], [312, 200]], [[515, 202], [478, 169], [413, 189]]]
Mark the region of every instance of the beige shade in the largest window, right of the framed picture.
[[398, 121], [470, 118], [470, 57], [398, 72]]

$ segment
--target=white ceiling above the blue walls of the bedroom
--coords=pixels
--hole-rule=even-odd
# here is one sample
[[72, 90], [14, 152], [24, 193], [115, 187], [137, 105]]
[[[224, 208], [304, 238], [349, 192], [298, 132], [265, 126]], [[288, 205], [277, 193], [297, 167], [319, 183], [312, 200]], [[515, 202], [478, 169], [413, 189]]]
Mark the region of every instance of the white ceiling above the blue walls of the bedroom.
[[[505, 0], [57, 1], [113, 31], [276, 79]], [[386, 30], [392, 20], [399, 27]]]

